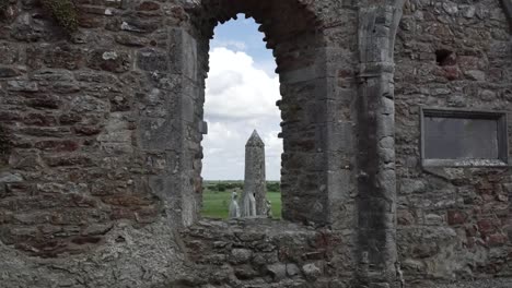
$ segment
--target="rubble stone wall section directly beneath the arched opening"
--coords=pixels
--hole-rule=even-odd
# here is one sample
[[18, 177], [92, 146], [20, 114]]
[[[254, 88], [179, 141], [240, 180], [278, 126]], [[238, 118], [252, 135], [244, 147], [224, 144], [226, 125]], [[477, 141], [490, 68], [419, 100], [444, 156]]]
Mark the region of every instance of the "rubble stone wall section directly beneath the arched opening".
[[350, 249], [340, 233], [268, 219], [200, 221], [184, 231], [197, 273], [187, 287], [346, 287]]

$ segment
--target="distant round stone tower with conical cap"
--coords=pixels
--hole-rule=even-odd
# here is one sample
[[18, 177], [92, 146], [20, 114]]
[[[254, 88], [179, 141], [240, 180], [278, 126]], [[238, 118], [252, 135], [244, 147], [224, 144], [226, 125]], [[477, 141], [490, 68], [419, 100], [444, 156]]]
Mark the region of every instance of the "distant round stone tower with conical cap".
[[[256, 130], [245, 144], [245, 177], [242, 201], [245, 199], [246, 193], [254, 193], [255, 195], [256, 215], [267, 215], [265, 143], [261, 141]], [[242, 215], [244, 215], [243, 212]]]

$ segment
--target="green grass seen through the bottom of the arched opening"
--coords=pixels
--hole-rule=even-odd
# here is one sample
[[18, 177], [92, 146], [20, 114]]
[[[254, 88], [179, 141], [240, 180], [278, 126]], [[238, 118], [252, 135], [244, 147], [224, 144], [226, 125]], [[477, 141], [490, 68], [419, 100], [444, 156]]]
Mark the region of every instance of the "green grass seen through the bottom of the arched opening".
[[[240, 195], [241, 193], [238, 193]], [[267, 192], [267, 199], [272, 203], [272, 217], [281, 218], [281, 193]], [[203, 217], [228, 218], [231, 202], [231, 192], [220, 192], [205, 190], [202, 193], [202, 211]]]

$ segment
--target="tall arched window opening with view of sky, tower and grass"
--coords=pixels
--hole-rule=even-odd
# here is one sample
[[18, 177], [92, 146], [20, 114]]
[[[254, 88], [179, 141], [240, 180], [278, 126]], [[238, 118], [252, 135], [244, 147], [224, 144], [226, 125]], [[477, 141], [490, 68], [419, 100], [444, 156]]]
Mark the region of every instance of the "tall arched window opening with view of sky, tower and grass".
[[281, 218], [279, 76], [272, 52], [265, 48], [265, 36], [257, 28], [252, 17], [240, 14], [217, 26], [210, 41], [205, 101], [208, 134], [202, 141], [203, 217], [256, 214]]

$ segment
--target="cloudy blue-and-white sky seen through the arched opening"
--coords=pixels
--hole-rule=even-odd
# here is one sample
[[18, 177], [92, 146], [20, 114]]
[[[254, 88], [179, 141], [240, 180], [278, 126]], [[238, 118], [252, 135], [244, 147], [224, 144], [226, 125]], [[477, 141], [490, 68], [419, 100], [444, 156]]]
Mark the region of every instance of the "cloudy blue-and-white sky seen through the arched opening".
[[279, 79], [257, 28], [253, 19], [238, 15], [217, 26], [210, 43], [205, 104], [209, 131], [202, 141], [206, 180], [244, 179], [245, 143], [255, 129], [266, 145], [267, 179], [280, 178]]

